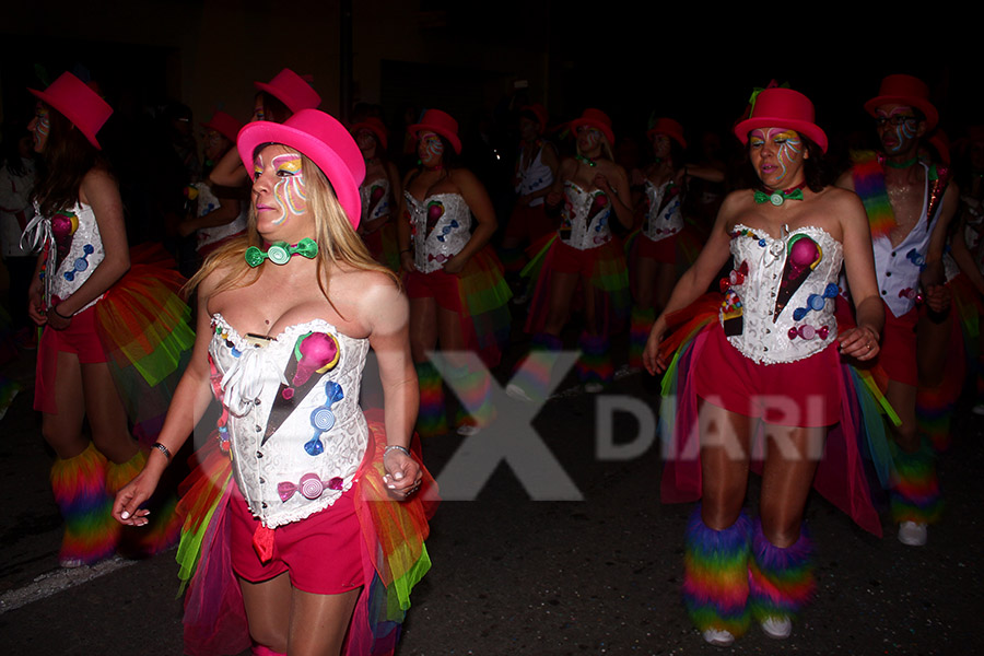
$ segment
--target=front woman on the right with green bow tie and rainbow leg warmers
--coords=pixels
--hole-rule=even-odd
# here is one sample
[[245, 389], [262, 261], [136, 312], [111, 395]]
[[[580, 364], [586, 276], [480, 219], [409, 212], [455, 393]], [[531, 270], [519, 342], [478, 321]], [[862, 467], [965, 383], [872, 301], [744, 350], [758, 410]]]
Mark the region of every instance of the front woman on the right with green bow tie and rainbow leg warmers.
[[[651, 373], [666, 368], [670, 342], [686, 341], [699, 325], [681, 326], [661, 344], [668, 323], [679, 325], [687, 313], [678, 311], [698, 301], [731, 257], [722, 295], [705, 304], [707, 327], [680, 348], [666, 374], [676, 396], [660, 412], [675, 423], [663, 500], [702, 499], [687, 529], [683, 597], [714, 645], [731, 644], [750, 616], [769, 636], [789, 635], [815, 588], [803, 529], [811, 483], [864, 528], [881, 531], [858, 454], [865, 422], [852, 401], [854, 376], [841, 364], [841, 358], [871, 360], [883, 323], [864, 207], [854, 194], [818, 181], [813, 165], [827, 136], [803, 94], [761, 92], [735, 134], [748, 144], [760, 187], [725, 199], [644, 353]], [[842, 267], [857, 326], [839, 329]], [[758, 445], [757, 434], [764, 435]], [[886, 454], [883, 433], [876, 443]], [[750, 466], [762, 472], [754, 526], [742, 511]]]

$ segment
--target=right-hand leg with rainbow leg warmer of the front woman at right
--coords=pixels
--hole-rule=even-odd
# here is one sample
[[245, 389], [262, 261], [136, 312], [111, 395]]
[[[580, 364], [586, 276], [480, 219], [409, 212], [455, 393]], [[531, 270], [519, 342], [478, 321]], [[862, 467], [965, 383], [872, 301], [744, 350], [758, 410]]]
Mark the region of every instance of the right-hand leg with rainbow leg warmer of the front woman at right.
[[752, 614], [772, 637], [787, 637], [792, 619], [816, 587], [812, 543], [803, 528], [803, 513], [827, 427], [766, 426], [760, 520], [749, 563]]

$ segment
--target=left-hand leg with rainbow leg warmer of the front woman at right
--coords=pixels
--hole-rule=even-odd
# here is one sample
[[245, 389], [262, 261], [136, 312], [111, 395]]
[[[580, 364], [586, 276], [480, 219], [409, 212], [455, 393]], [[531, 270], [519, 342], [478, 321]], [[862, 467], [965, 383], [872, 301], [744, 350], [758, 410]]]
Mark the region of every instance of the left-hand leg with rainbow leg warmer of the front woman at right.
[[687, 528], [683, 600], [704, 640], [728, 645], [749, 624], [751, 523], [741, 507], [751, 420], [704, 401], [699, 422], [703, 502]]

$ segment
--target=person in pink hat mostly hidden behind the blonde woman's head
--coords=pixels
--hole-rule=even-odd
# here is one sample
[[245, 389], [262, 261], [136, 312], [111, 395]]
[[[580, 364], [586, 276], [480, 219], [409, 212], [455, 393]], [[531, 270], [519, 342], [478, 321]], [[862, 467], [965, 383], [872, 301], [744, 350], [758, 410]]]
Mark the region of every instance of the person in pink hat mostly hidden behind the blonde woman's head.
[[[256, 99], [253, 120], [283, 122], [302, 109], [317, 109], [321, 96], [312, 87], [311, 75], [301, 77], [291, 69], [283, 69], [269, 82], [254, 82]], [[241, 187], [249, 181], [249, 172], [243, 166], [235, 149], [230, 150], [212, 169], [209, 181], [222, 187]]]

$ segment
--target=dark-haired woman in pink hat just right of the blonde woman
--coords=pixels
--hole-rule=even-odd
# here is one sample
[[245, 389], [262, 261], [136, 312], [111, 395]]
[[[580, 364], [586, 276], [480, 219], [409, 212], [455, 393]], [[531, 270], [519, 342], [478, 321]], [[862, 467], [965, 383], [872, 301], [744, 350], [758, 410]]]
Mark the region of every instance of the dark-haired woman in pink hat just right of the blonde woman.
[[490, 379], [484, 367], [459, 353], [475, 352], [485, 366], [495, 366], [509, 335], [508, 285], [488, 246], [497, 225], [495, 211], [478, 178], [456, 165], [461, 141], [454, 118], [427, 109], [408, 129], [417, 134], [420, 165], [403, 180], [406, 220], [397, 227], [421, 390], [418, 430], [440, 434], [446, 429], [442, 377], [427, 358], [440, 347], [458, 396], [467, 389], [475, 401], [458, 422], [459, 434], [472, 434], [491, 419]]

